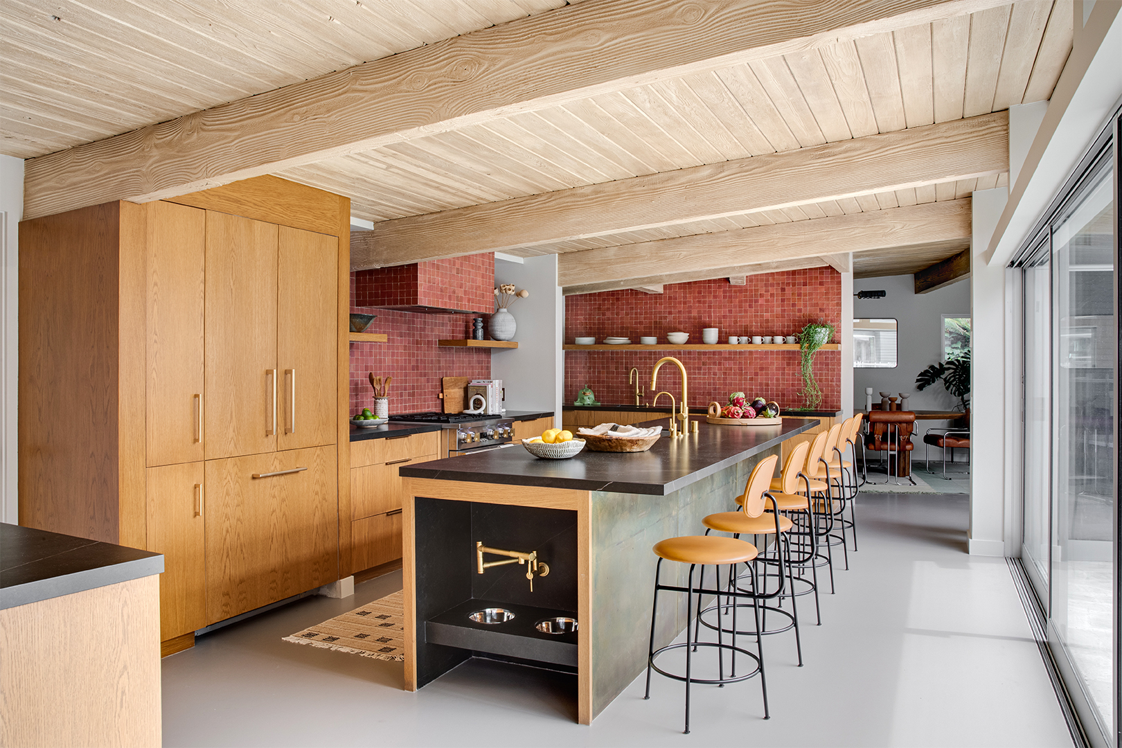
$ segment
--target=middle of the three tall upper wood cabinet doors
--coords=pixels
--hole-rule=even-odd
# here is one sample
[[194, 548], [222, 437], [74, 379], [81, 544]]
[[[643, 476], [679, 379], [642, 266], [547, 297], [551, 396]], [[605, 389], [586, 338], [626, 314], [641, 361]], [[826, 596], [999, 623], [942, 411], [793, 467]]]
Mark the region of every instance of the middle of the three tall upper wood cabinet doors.
[[277, 227], [206, 211], [208, 460], [276, 449], [276, 304]]

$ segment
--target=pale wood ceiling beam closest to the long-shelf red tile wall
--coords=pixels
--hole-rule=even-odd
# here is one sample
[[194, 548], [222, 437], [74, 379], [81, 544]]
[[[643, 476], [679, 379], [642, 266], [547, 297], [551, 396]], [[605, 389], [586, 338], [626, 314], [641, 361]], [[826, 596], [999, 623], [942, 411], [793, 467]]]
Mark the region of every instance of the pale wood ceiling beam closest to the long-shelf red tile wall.
[[[890, 207], [870, 213], [838, 215], [775, 225], [699, 233], [604, 249], [565, 252], [558, 257], [561, 286], [627, 281], [649, 278], [674, 268], [675, 273], [711, 271], [772, 260], [815, 258], [939, 241], [968, 241], [971, 200]], [[738, 273], [717, 273], [719, 278]]]

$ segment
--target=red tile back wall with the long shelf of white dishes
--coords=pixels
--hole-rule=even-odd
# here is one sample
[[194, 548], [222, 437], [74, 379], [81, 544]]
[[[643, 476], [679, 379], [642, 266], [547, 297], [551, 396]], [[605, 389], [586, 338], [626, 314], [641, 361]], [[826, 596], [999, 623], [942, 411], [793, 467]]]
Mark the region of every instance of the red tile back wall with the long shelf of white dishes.
[[[611, 290], [565, 297], [565, 343], [578, 335], [631, 338], [668, 332], [688, 332], [690, 343], [701, 343], [702, 327], [719, 327], [721, 343], [729, 335], [797, 334], [808, 322], [825, 320], [839, 326], [842, 276], [834, 268], [810, 268], [748, 276], [747, 285], [727, 279], [673, 284], [662, 294]], [[837, 339], [830, 342], [838, 342]], [[705, 408], [710, 400], [725, 403], [730, 391], [762, 396], [784, 408], [803, 407], [802, 376], [798, 351], [565, 351], [564, 399], [572, 403], [586, 385], [606, 405], [634, 404], [634, 386], [627, 384], [632, 367], [640, 371], [645, 389], [651, 370], [663, 355], [680, 359], [689, 375], [690, 408]], [[842, 407], [842, 355], [819, 351], [815, 378], [822, 390], [821, 407]], [[681, 393], [677, 367], [663, 364], [659, 389]], [[654, 393], [646, 391], [651, 403]], [[663, 396], [660, 405], [669, 405]]]

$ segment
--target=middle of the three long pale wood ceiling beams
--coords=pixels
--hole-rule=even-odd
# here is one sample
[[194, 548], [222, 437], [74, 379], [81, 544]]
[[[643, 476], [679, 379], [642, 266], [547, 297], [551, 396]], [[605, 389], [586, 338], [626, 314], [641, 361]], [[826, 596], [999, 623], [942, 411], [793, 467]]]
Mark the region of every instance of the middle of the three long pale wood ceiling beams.
[[[968, 179], [1009, 168], [1009, 113], [376, 223], [359, 270]], [[821, 249], [819, 249], [821, 251]]]

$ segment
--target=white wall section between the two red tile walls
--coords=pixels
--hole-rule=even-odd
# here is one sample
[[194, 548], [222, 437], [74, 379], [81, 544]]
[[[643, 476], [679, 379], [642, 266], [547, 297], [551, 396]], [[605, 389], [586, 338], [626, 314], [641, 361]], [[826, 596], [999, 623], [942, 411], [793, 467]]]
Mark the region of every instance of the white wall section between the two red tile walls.
[[508, 410], [553, 410], [561, 424], [564, 387], [564, 302], [558, 286], [558, 256], [527, 257], [524, 262], [495, 258], [495, 284], [513, 283], [530, 290], [509, 312], [518, 323], [515, 350], [491, 351], [491, 377], [503, 380]]

